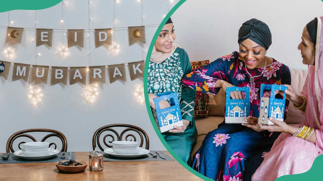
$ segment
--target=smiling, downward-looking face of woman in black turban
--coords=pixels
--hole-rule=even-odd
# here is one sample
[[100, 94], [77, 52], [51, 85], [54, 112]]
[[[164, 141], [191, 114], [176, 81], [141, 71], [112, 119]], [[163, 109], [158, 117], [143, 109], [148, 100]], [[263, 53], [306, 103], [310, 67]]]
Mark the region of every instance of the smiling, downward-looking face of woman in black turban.
[[[265, 48], [247, 38], [239, 45], [239, 54], [248, 69], [265, 65]], [[268, 62], [268, 61], [267, 61]]]

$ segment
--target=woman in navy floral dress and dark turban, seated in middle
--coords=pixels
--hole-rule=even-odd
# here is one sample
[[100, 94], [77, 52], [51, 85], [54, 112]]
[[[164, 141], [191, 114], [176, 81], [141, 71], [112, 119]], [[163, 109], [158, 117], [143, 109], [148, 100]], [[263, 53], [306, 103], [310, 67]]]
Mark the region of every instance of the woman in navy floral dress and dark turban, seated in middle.
[[[267, 57], [271, 44], [268, 26], [257, 20], [245, 22], [238, 34], [239, 52], [205, 65], [185, 75], [183, 85], [209, 94], [217, 94], [220, 88], [250, 88], [250, 124], [221, 123], [209, 132], [201, 148], [196, 152], [193, 168], [214, 180], [250, 180], [261, 164], [262, 154], [270, 150], [280, 133], [263, 131], [257, 125], [259, 117], [260, 85], [289, 84], [291, 76], [288, 67]], [[264, 97], [269, 97], [265, 92]], [[231, 92], [232, 99], [242, 99], [243, 93]], [[287, 115], [286, 102], [285, 116]]]

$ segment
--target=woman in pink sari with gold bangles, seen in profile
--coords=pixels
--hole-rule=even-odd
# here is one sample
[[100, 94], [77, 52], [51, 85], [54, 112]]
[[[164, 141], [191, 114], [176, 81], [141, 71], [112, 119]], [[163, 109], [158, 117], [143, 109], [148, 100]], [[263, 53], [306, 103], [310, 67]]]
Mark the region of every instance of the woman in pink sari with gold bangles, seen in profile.
[[275, 180], [279, 176], [308, 171], [314, 159], [323, 154], [323, 16], [309, 22], [298, 45], [303, 63], [308, 64], [307, 79], [301, 95], [290, 85], [287, 99], [305, 112], [305, 121], [296, 127], [270, 118], [272, 126], [259, 125], [268, 131], [283, 132], [256, 170], [252, 180]]

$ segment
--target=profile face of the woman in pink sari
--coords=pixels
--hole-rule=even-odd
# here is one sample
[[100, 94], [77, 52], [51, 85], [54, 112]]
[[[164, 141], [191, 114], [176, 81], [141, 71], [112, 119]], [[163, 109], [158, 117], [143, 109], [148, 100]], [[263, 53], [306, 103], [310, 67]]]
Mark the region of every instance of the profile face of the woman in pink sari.
[[299, 43], [297, 48], [298, 48], [298, 50], [301, 51], [303, 63], [305, 65], [313, 65], [314, 59], [315, 59], [315, 45], [310, 40], [306, 26], [303, 29], [302, 41], [301, 41], [301, 43]]

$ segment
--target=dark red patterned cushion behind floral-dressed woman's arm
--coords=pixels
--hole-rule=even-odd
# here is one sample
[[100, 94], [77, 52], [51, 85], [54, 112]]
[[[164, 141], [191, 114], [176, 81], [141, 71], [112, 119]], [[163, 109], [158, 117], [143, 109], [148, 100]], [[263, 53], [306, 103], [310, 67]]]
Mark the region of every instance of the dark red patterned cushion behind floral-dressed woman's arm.
[[[191, 62], [192, 71], [200, 66], [209, 64], [209, 60]], [[196, 92], [195, 106], [194, 106], [194, 118], [205, 118], [209, 113], [209, 104], [207, 100], [207, 94], [202, 92]]]

